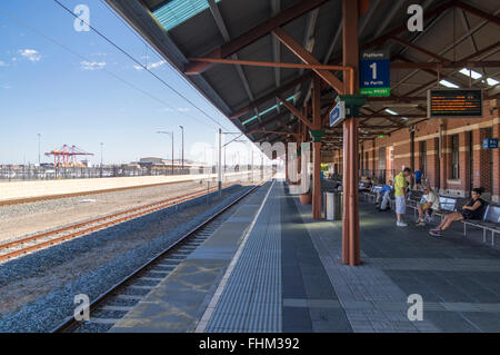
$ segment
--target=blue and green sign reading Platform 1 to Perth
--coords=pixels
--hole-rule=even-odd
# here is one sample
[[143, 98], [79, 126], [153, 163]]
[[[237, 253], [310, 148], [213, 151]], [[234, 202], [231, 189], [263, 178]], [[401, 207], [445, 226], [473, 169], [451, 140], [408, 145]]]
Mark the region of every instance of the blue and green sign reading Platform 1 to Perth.
[[366, 51], [359, 61], [359, 92], [367, 96], [390, 96], [390, 58], [384, 50]]

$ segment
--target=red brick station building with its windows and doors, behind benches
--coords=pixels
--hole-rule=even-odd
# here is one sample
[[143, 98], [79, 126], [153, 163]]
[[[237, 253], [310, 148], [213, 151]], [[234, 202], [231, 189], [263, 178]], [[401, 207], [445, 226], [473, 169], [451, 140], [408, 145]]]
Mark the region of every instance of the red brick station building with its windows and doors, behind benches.
[[[486, 100], [483, 118], [429, 119], [362, 141], [360, 174], [381, 181], [403, 167], [421, 168], [442, 195], [468, 197], [471, 188], [483, 187], [484, 198], [500, 201], [500, 149], [482, 148], [483, 138], [500, 137], [499, 103]], [[333, 152], [332, 162], [341, 172], [341, 150]]]

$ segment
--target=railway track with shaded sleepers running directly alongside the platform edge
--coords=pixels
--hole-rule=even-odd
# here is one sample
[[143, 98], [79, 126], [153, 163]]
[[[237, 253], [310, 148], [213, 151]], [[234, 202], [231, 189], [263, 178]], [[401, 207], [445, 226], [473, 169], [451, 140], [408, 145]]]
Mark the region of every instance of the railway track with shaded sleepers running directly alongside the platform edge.
[[244, 197], [262, 186], [252, 187], [234, 201], [210, 216], [207, 220], [183, 235], [178, 241], [148, 260], [118, 284], [98, 296], [89, 305], [90, 322], [78, 322], [73, 316], [52, 329], [52, 333], [86, 332], [94, 326], [101, 331], [112, 327], [162, 279], [201, 245], [212, 233], [230, 217], [232, 208]]

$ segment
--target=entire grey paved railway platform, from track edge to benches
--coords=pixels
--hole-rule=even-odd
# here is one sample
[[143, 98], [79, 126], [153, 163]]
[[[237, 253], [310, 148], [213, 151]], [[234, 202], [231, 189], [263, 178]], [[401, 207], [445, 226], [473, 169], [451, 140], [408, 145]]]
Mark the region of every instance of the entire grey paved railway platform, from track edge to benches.
[[[366, 204], [360, 226], [350, 267], [341, 221], [313, 220], [287, 184], [267, 183], [110, 332], [500, 331], [498, 250], [398, 229]], [[408, 316], [414, 295], [422, 321]]]

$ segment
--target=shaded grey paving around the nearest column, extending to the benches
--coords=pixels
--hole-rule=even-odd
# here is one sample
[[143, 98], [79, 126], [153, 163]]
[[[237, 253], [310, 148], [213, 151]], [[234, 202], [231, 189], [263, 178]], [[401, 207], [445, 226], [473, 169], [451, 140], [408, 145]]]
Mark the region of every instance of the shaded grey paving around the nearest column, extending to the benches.
[[[312, 221], [298, 206], [354, 332], [499, 332], [500, 253], [460, 228], [436, 239], [427, 228], [397, 228], [392, 213], [360, 206], [359, 267], [341, 263], [341, 223]], [[410, 219], [410, 217], [408, 217]], [[407, 297], [423, 299], [423, 321], [410, 322]]]

